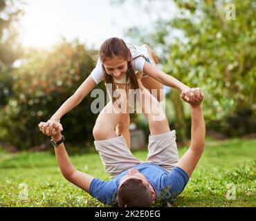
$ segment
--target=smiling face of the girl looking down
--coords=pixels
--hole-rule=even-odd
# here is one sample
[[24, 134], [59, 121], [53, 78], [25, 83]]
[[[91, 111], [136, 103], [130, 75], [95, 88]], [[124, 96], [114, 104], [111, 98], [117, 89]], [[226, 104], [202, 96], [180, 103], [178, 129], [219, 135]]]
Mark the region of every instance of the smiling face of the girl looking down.
[[122, 56], [114, 56], [107, 58], [103, 66], [108, 75], [111, 75], [115, 79], [122, 79], [127, 72], [128, 62], [123, 59]]

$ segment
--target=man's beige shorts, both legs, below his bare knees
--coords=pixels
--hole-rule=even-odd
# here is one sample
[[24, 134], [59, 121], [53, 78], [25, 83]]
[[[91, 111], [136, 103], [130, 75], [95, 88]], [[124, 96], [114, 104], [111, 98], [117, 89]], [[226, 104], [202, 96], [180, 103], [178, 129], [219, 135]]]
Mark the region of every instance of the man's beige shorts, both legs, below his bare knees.
[[[122, 135], [108, 140], [94, 141], [94, 144], [111, 178], [143, 162], [131, 154]], [[146, 162], [163, 166], [169, 172], [179, 160], [175, 131], [149, 135], [148, 149]]]

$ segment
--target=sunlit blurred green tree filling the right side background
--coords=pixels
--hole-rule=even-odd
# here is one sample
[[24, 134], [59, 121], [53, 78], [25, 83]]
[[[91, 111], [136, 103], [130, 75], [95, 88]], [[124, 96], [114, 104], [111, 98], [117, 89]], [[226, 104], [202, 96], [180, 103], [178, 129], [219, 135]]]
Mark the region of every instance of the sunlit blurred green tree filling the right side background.
[[163, 70], [203, 89], [208, 128], [255, 132], [256, 1], [174, 2], [174, 18], [159, 19], [153, 32], [127, 34], [163, 48]]

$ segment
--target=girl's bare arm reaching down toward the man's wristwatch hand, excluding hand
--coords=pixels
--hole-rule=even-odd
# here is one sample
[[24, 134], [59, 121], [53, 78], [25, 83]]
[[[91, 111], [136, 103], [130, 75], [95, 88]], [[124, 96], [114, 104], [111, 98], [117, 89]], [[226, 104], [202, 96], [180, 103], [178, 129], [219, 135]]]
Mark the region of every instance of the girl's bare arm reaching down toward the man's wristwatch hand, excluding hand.
[[82, 99], [88, 95], [93, 88], [95, 88], [96, 83], [91, 76], [87, 77], [86, 80], [80, 85], [75, 93], [69, 97], [62, 106], [55, 112], [51, 119], [61, 119], [63, 115], [71, 111], [75, 106], [82, 102]]

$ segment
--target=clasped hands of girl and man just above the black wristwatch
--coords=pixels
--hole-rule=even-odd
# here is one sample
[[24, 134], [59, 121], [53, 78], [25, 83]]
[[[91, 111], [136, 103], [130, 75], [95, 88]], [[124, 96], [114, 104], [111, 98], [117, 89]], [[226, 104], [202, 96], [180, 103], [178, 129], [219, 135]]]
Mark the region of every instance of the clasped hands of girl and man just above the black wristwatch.
[[63, 131], [62, 124], [55, 119], [49, 119], [48, 122], [40, 122], [38, 124], [39, 131], [47, 136], [55, 136]]

